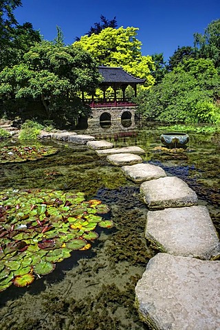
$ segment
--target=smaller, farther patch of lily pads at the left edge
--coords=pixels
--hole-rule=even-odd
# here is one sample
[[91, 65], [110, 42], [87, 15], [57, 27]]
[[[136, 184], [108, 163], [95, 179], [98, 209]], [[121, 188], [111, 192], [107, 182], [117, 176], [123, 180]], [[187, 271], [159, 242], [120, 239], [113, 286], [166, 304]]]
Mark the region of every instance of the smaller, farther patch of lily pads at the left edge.
[[25, 162], [57, 153], [53, 146], [3, 146], [0, 151], [0, 163]]

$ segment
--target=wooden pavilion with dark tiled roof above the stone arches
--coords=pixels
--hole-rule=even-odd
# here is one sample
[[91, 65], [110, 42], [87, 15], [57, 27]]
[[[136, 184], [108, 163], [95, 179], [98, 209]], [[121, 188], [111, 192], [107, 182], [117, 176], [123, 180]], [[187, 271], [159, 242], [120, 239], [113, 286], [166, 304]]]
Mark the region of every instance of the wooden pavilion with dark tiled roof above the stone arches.
[[[136, 78], [128, 74], [122, 67], [98, 67], [98, 72], [102, 76], [100, 89], [103, 91], [103, 98], [90, 99], [90, 107], [132, 107], [135, 106], [133, 102], [125, 97], [125, 89], [129, 85], [134, 89], [134, 96], [137, 96], [137, 85], [144, 84], [145, 79]], [[112, 87], [114, 91], [113, 98], [106, 98], [105, 92], [108, 87]], [[117, 98], [117, 90], [122, 90], [122, 98]]]

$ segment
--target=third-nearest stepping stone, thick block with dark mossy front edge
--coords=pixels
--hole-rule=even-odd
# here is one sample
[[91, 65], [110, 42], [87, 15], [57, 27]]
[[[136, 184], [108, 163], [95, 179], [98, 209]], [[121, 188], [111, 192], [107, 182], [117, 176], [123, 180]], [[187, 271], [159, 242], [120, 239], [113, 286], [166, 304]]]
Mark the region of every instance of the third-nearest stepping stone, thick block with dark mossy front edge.
[[148, 208], [175, 208], [197, 204], [197, 194], [178, 177], [161, 177], [140, 185], [140, 194]]

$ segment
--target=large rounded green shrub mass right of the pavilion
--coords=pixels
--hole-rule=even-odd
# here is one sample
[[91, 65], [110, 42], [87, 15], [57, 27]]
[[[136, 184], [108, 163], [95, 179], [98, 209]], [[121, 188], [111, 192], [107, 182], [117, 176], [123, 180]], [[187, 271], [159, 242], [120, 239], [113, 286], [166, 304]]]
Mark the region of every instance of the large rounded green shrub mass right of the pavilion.
[[210, 60], [184, 61], [137, 97], [139, 111], [161, 122], [220, 122], [220, 78]]

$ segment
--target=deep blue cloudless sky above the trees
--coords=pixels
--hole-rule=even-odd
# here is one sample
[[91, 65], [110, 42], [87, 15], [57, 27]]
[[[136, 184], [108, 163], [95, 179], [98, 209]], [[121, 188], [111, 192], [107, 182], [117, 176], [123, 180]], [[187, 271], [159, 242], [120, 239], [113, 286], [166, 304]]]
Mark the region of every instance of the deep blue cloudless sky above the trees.
[[23, 0], [15, 10], [19, 23], [30, 21], [43, 37], [53, 40], [56, 25], [61, 27], [65, 43], [85, 34], [100, 15], [118, 27], [139, 28], [142, 54], [164, 53], [167, 60], [177, 47], [193, 45], [193, 34], [220, 18], [220, 0]]

